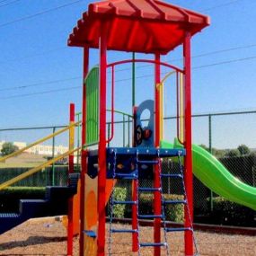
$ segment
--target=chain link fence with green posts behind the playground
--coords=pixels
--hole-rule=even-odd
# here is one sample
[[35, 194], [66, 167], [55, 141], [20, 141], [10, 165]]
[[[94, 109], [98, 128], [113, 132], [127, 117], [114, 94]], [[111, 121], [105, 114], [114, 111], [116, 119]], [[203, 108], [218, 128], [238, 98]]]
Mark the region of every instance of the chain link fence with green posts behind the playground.
[[[44, 137], [57, 129], [63, 127], [47, 127], [47, 128], [6, 128], [0, 129], [0, 141], [10, 142], [25, 142], [31, 143], [40, 137]], [[216, 158], [225, 165], [225, 168], [231, 172], [237, 179], [246, 184], [256, 186], [256, 137], [254, 137], [254, 130], [256, 128], [256, 111], [243, 112], [229, 112], [229, 113], [210, 113], [202, 115], [194, 115], [192, 118], [193, 130], [193, 144], [203, 146], [207, 151], [214, 154]], [[80, 130], [81, 132], [81, 130]], [[107, 135], [110, 137], [111, 128], [110, 123], [107, 124]], [[128, 116], [122, 116], [121, 119], [116, 119], [114, 138], [109, 146], [132, 146], [133, 125], [132, 119]], [[164, 139], [173, 142], [177, 135], [176, 118], [166, 117], [164, 119]], [[77, 145], [80, 145], [79, 136], [75, 137]], [[51, 151], [48, 156], [53, 157], [57, 155], [54, 148], [57, 146], [68, 145], [67, 135], [61, 135], [55, 139], [49, 140], [44, 146], [51, 146]], [[240, 147], [239, 147], [240, 146]], [[31, 154], [32, 155], [32, 154]], [[35, 157], [37, 153], [33, 154]], [[79, 172], [80, 164], [78, 157], [75, 157], [76, 171]], [[37, 158], [31, 157], [28, 161], [29, 166], [34, 166], [39, 162]], [[16, 158], [15, 166], [8, 167], [8, 164], [1, 167], [0, 182], [16, 176], [19, 173], [25, 172], [29, 169], [26, 164], [19, 163]], [[46, 161], [42, 157], [40, 161]], [[15, 161], [14, 161], [15, 162]], [[6, 162], [8, 163], [8, 162]], [[22, 166], [22, 164], [24, 166]], [[5, 168], [5, 169], [4, 169]], [[163, 172], [179, 172], [177, 160], [167, 159], [163, 161]], [[46, 186], [46, 185], [66, 185], [67, 166], [51, 166], [38, 172], [24, 181], [20, 181], [15, 186]], [[140, 181], [140, 186], [150, 187], [152, 181]], [[119, 181], [118, 187], [127, 190], [127, 196], [131, 195], [131, 185], [127, 181]], [[182, 197], [182, 186], [178, 181], [173, 179], [163, 180], [163, 194], [171, 194], [177, 198]], [[152, 211], [153, 199], [150, 196], [142, 196], [140, 200], [143, 201], [140, 210], [143, 212]], [[224, 213], [228, 213], [225, 214]], [[181, 211], [176, 219], [181, 219]], [[221, 224], [238, 224], [238, 225], [255, 225], [255, 212], [247, 207], [241, 207], [233, 202], [220, 198], [214, 192], [204, 186], [201, 181], [194, 178], [194, 213], [195, 221], [211, 222]], [[123, 216], [130, 216], [131, 211], [126, 207]], [[240, 218], [237, 218], [240, 214]], [[218, 216], [218, 219], [217, 217]], [[244, 221], [242, 216], [247, 217]], [[236, 217], [236, 218], [235, 218]], [[251, 218], [250, 221], [248, 217]], [[170, 216], [170, 219], [175, 219], [175, 216]], [[236, 219], [236, 223], [232, 222]], [[238, 220], [237, 220], [238, 219]], [[240, 222], [240, 223], [239, 223]]]

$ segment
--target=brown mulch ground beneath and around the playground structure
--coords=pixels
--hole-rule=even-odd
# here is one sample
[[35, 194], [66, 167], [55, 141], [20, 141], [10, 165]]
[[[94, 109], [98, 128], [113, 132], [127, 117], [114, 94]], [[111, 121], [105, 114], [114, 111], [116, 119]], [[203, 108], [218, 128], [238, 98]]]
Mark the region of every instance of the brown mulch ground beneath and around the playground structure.
[[[116, 225], [117, 228], [126, 228]], [[128, 227], [127, 227], [128, 228]], [[106, 241], [108, 241], [108, 235]], [[141, 227], [141, 242], [152, 242], [152, 227]], [[199, 255], [255, 256], [256, 237], [247, 235], [195, 232]], [[131, 252], [130, 234], [112, 234], [111, 255], [137, 255]], [[171, 255], [184, 255], [183, 234], [168, 234]], [[108, 252], [108, 244], [106, 252]], [[59, 218], [31, 219], [0, 235], [0, 255], [66, 255], [66, 229]], [[74, 239], [74, 255], [78, 255], [78, 238]], [[106, 253], [108, 255], [108, 253]], [[153, 255], [141, 249], [141, 256]], [[162, 255], [168, 255], [164, 250]]]

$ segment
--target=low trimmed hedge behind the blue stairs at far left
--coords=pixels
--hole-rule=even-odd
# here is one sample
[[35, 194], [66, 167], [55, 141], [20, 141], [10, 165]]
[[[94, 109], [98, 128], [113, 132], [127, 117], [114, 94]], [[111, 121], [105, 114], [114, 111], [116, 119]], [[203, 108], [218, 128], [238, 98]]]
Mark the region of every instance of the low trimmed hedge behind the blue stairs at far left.
[[9, 187], [0, 190], [0, 212], [18, 212], [20, 199], [44, 199], [44, 187]]

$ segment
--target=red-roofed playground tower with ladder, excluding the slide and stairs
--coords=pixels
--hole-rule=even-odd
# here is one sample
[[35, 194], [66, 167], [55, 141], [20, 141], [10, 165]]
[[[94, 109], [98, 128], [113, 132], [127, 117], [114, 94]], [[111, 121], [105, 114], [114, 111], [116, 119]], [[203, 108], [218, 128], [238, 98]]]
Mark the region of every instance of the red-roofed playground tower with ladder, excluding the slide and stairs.
[[[84, 48], [80, 255], [105, 255], [105, 202], [108, 199], [108, 194], [113, 193], [114, 183], [118, 179], [131, 180], [132, 200], [115, 201], [110, 196], [110, 206], [112, 208], [117, 204], [130, 205], [133, 223], [132, 229], [129, 230], [115, 230], [110, 227], [110, 241], [112, 234], [132, 234], [133, 252], [138, 252], [139, 255], [143, 247], [154, 247], [156, 256], [160, 255], [161, 247], [166, 248], [168, 253], [167, 233], [184, 231], [185, 254], [194, 254], [190, 40], [195, 33], [201, 31], [208, 24], [207, 16], [160, 1], [104, 1], [89, 4], [88, 11], [84, 13], [83, 18], [77, 22], [73, 33], [70, 34], [68, 45]], [[161, 55], [167, 54], [180, 45], [183, 45], [183, 69], [161, 61]], [[89, 72], [89, 49], [91, 48], [99, 49], [100, 64], [99, 68], [95, 67]], [[134, 58], [108, 64], [107, 50], [110, 49], [150, 53], [154, 54], [154, 59]], [[106, 137], [107, 69], [110, 68], [111, 73], [110, 102], [111, 123], [113, 123], [115, 68], [122, 64], [142, 62], [154, 65], [154, 102], [153, 104], [146, 103], [141, 110], [135, 109], [133, 147], [107, 147], [107, 143], [114, 137], [113, 126], [111, 127], [111, 136]], [[184, 93], [178, 93], [178, 97], [184, 99], [179, 108], [179, 110], [183, 110], [181, 122], [179, 122], [179, 131], [181, 131], [179, 138], [183, 142], [184, 148], [167, 149], [160, 146], [163, 134], [163, 126], [161, 126], [161, 118], [163, 118], [161, 66], [170, 68], [171, 72], [174, 71], [177, 75], [177, 87], [180, 87], [181, 93]], [[181, 83], [180, 77], [184, 83]], [[142, 128], [139, 123], [139, 114], [145, 109], [150, 110], [151, 116], [149, 126]], [[90, 146], [94, 145], [97, 145], [98, 149], [91, 151]], [[162, 193], [164, 176], [161, 174], [161, 159], [173, 156], [179, 158], [181, 173], [168, 174], [168, 177], [180, 179], [183, 183], [184, 199], [180, 201], [164, 200]], [[185, 172], [181, 166], [181, 157], [184, 157]], [[119, 168], [119, 166], [122, 167]], [[150, 174], [154, 179], [154, 187], [141, 188], [139, 180], [148, 178]], [[154, 215], [138, 214], [140, 192], [154, 193]], [[184, 227], [167, 228], [165, 226], [164, 205], [167, 204], [184, 204]], [[93, 214], [89, 213], [89, 209], [93, 211]], [[153, 243], [139, 241], [138, 218], [154, 219]], [[160, 235], [162, 225], [164, 239], [161, 239]], [[91, 249], [88, 249], [88, 241], [92, 242]]]

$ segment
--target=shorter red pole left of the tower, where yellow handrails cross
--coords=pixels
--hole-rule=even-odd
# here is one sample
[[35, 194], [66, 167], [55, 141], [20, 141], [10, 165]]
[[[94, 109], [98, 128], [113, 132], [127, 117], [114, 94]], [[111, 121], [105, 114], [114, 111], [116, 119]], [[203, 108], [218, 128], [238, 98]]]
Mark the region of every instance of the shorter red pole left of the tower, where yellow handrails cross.
[[[75, 122], [75, 104], [71, 103], [69, 107], [69, 124], [74, 124]], [[74, 148], [74, 130], [72, 127], [69, 129], [69, 149]], [[74, 154], [68, 155], [68, 173], [74, 172]], [[73, 255], [73, 234], [74, 234], [74, 224], [73, 224], [73, 197], [68, 199], [68, 225], [67, 225], [67, 255]]]

